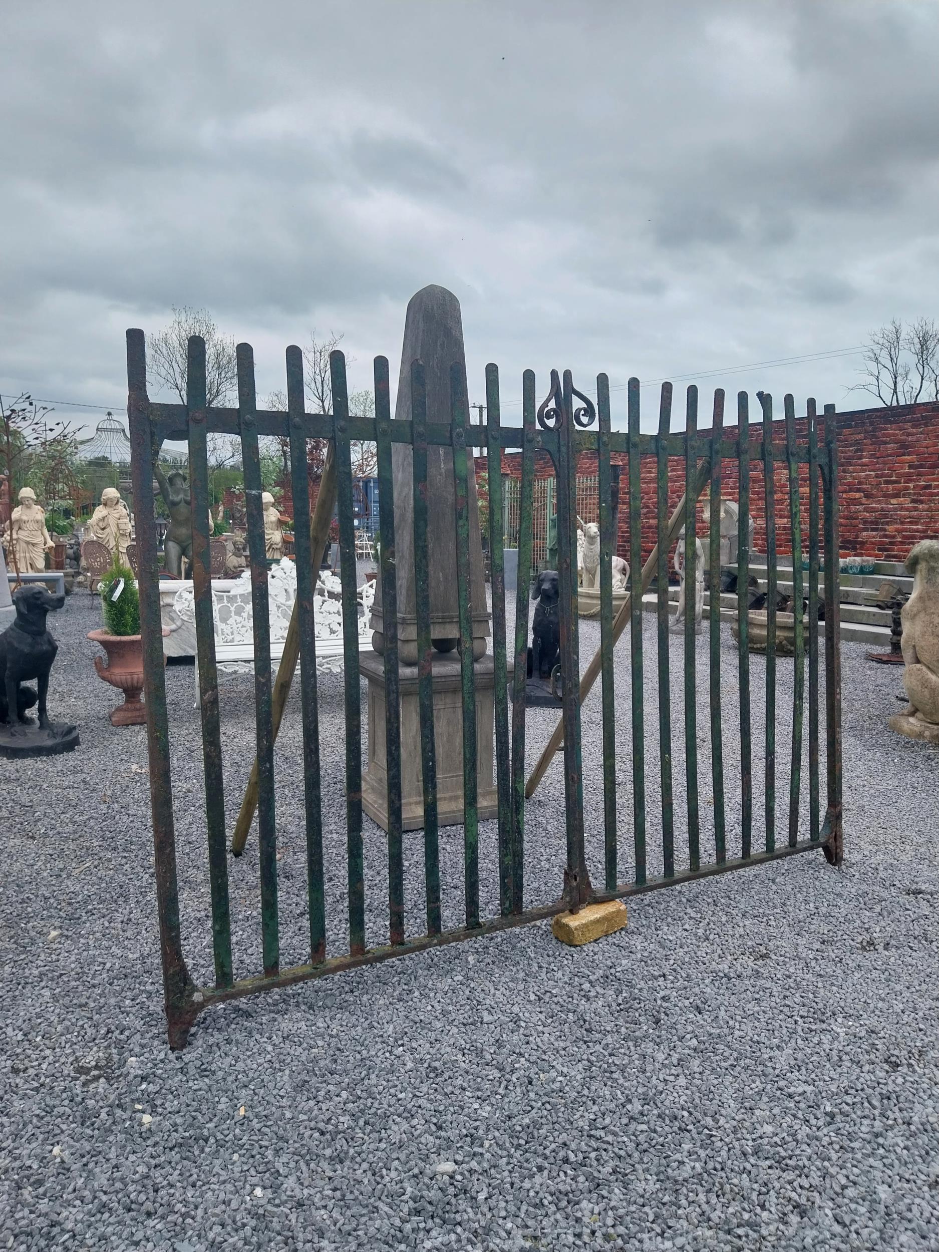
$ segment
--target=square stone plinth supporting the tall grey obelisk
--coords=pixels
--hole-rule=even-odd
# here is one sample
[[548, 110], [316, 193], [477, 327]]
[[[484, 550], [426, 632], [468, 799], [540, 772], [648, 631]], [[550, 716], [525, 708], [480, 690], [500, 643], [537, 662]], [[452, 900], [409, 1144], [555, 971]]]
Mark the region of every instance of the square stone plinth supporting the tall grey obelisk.
[[[361, 672], [368, 679], [368, 766], [362, 779], [362, 808], [383, 830], [388, 829], [388, 775], [384, 737], [384, 659], [363, 652]], [[404, 830], [424, 824], [421, 770], [421, 715], [417, 666], [398, 670], [401, 692], [401, 813]], [[495, 675], [492, 657], [473, 665], [476, 677], [476, 761], [480, 820], [496, 816], [493, 772]], [[511, 667], [510, 667], [511, 676]], [[437, 750], [437, 820], [441, 826], [463, 823], [463, 722], [459, 657], [434, 654], [433, 730]]]

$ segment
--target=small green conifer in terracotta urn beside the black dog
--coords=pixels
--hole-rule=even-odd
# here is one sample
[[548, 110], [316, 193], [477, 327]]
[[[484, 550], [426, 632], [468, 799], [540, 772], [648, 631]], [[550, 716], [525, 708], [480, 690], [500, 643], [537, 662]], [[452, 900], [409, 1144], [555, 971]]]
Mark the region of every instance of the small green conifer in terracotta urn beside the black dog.
[[[88, 637], [108, 654], [105, 666], [95, 656], [99, 679], [124, 692], [124, 704], [111, 710], [113, 726], [141, 726], [146, 709], [140, 700], [144, 686], [144, 651], [140, 640], [140, 600], [133, 572], [120, 563], [120, 552], [100, 582], [104, 629]], [[165, 629], [164, 635], [169, 634]]]

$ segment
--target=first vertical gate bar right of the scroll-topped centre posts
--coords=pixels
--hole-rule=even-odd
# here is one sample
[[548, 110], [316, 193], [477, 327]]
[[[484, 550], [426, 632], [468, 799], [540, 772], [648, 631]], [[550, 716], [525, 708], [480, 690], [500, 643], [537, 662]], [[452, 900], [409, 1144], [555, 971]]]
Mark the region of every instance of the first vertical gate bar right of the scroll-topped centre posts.
[[600, 655], [603, 716], [603, 868], [616, 889], [616, 691], [613, 687], [613, 502], [610, 473], [610, 379], [597, 374], [600, 511]]

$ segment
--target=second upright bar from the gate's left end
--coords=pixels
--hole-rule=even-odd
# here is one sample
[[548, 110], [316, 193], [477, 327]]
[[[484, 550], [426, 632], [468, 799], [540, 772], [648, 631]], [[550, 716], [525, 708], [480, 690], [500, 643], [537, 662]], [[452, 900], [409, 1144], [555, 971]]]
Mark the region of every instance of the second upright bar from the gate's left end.
[[215, 985], [232, 985], [232, 919], [228, 901], [228, 849], [222, 772], [222, 724], [215, 666], [215, 615], [212, 603], [209, 548], [209, 467], [205, 447], [205, 341], [190, 336], [187, 351], [185, 404], [189, 428], [189, 475], [193, 517], [193, 601], [199, 657], [202, 755], [205, 774], [205, 828], [212, 888], [212, 940]]

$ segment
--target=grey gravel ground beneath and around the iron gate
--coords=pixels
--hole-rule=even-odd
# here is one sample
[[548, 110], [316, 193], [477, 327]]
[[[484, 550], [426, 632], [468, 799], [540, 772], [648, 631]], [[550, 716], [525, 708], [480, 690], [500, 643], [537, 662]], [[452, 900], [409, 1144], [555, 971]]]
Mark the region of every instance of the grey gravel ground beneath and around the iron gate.
[[[846, 645], [846, 855], [791, 858], [630, 901], [586, 949], [547, 924], [388, 962], [200, 1018], [165, 1044], [144, 730], [85, 640], [96, 603], [53, 620], [54, 715], [81, 746], [0, 762], [0, 1249], [939, 1248], [935, 752], [890, 735], [896, 671]], [[654, 623], [647, 620], [650, 870], [660, 839]], [[724, 627], [726, 632], [726, 627]], [[583, 623], [581, 652], [597, 627]], [[736, 686], [724, 637], [729, 826], [737, 829]], [[697, 710], [710, 844], [706, 637]], [[621, 876], [631, 811], [627, 652], [617, 650]], [[684, 793], [682, 642], [672, 640], [674, 769]], [[754, 657], [754, 704], [764, 674]], [[780, 714], [791, 661], [779, 662]], [[187, 957], [210, 977], [198, 716], [167, 671]], [[66, 691], [68, 687], [68, 691]], [[347, 905], [342, 679], [321, 679], [327, 906]], [[252, 754], [252, 684], [223, 690], [227, 808]], [[587, 828], [601, 879], [598, 692], [583, 706]], [[552, 715], [532, 712], [530, 752]], [[754, 720], [760, 781], [761, 724]], [[283, 960], [304, 953], [299, 707], [278, 746]], [[777, 745], [779, 838], [789, 735]], [[527, 903], [563, 863], [561, 770], [527, 810]], [[761, 790], [756, 814], [761, 818]], [[755, 839], [761, 826], [755, 828]], [[407, 839], [421, 929], [419, 834]], [[685, 838], [676, 804], [676, 844]], [[462, 833], [442, 835], [458, 921]], [[739, 846], [739, 843], [737, 843]], [[253, 836], [249, 851], [255, 851]], [[732, 854], [734, 840], [730, 840]], [[369, 936], [386, 935], [384, 844], [367, 823]], [[679, 856], [679, 863], [681, 858]], [[710, 859], [710, 854], [709, 854]], [[481, 835], [496, 905], [495, 830]], [[259, 970], [254, 855], [232, 863], [235, 962]]]

